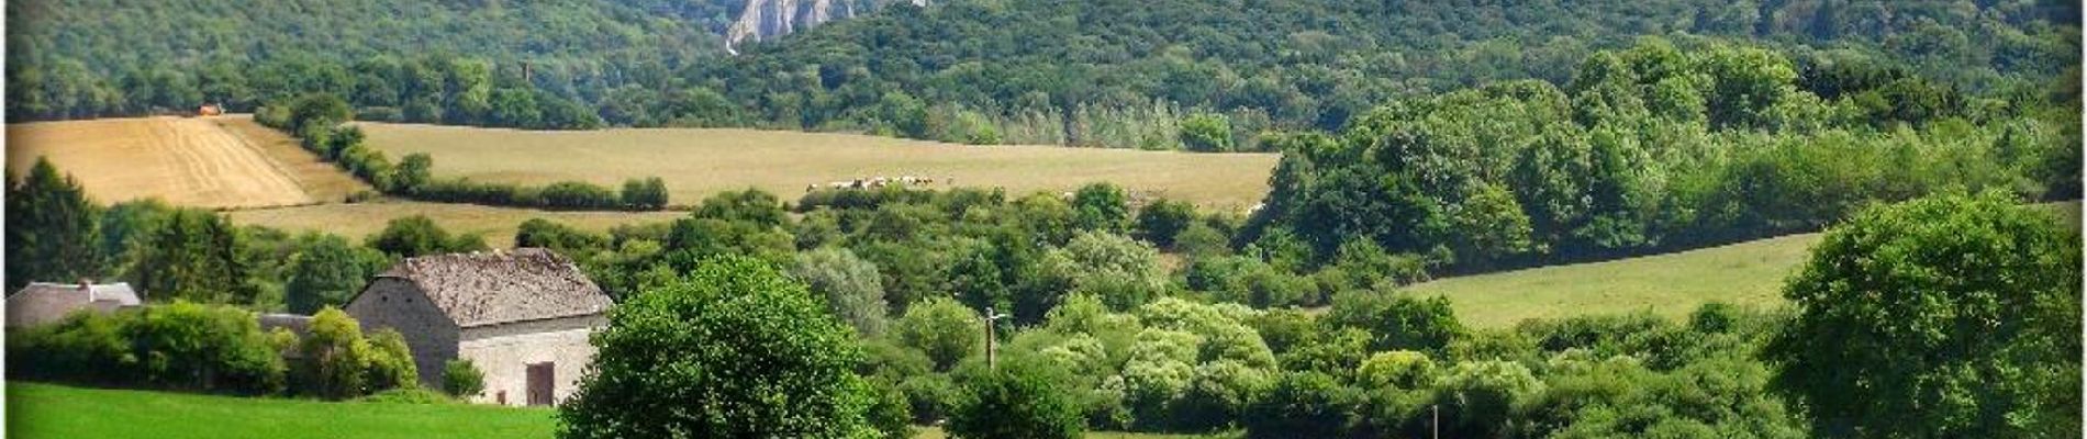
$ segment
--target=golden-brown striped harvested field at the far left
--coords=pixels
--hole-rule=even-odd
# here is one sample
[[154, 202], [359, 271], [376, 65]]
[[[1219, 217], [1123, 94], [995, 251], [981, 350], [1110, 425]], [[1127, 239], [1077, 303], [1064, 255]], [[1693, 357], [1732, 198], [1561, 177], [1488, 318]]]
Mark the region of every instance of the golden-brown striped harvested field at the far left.
[[255, 208], [332, 202], [363, 189], [280, 133], [244, 117], [146, 117], [6, 127], [6, 164], [48, 156], [98, 202]]

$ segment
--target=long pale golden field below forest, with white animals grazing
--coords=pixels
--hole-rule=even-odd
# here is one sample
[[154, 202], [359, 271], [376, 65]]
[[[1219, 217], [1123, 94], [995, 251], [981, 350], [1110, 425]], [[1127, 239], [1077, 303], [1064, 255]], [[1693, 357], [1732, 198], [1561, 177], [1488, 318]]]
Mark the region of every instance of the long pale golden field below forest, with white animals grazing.
[[760, 187], [795, 200], [810, 183], [931, 177], [1010, 193], [1071, 191], [1112, 181], [1133, 193], [1244, 212], [1269, 191], [1277, 154], [1185, 154], [1058, 146], [954, 146], [845, 133], [755, 129], [515, 131], [361, 123], [369, 144], [399, 158], [434, 156], [438, 177], [501, 183], [591, 181], [620, 187], [662, 177], [674, 204]]

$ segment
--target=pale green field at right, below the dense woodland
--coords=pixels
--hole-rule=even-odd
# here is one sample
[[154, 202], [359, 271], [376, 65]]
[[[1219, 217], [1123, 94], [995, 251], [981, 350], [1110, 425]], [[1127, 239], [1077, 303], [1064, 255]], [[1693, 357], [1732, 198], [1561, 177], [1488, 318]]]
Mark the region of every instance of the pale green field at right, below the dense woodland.
[[[2043, 204], [2081, 227], [2081, 204]], [[1526, 318], [1653, 312], [1686, 316], [1707, 302], [1782, 306], [1782, 281], [1805, 262], [1820, 233], [1784, 235], [1718, 248], [1626, 260], [1540, 266], [1450, 277], [1409, 287], [1444, 295], [1473, 327], [1511, 327]]]

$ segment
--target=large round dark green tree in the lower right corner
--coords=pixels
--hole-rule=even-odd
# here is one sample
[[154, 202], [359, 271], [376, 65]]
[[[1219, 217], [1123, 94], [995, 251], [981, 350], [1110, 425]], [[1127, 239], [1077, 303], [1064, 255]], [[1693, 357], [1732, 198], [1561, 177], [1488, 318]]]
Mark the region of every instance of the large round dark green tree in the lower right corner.
[[1837, 437], [2062, 437], [2081, 422], [2079, 235], [2006, 196], [1834, 227], [1791, 277], [1776, 383]]

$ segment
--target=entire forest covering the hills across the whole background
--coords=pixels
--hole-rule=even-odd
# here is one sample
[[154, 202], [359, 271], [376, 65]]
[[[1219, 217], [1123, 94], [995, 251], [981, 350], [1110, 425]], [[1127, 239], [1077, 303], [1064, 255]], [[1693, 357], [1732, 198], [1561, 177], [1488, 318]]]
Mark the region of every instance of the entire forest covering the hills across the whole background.
[[[785, 127], [968, 144], [1206, 150], [1181, 133], [1188, 121], [1225, 121], [1233, 141], [1223, 144], [1254, 150], [1265, 129], [1332, 131], [1400, 96], [1511, 79], [1563, 85], [1584, 56], [1640, 35], [1757, 42], [1799, 71], [1893, 64], [1976, 96], [2049, 89], [2079, 64], [2079, 4], [2045, 0], [956, 0], [891, 6], [724, 56], [716, 31], [739, 6], [21, 2], [8, 6], [21, 23], [8, 31], [8, 77], [23, 98], [8, 110], [246, 110], [330, 92], [378, 121]], [[472, 67], [449, 73], [442, 89], [384, 89], [459, 71], [445, 64]], [[515, 92], [478, 96], [474, 75]], [[522, 114], [490, 117], [490, 106]], [[526, 114], [580, 110], [591, 117]]]

